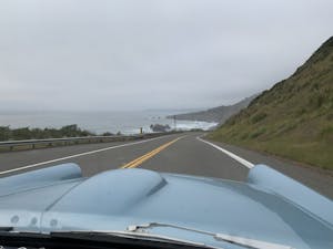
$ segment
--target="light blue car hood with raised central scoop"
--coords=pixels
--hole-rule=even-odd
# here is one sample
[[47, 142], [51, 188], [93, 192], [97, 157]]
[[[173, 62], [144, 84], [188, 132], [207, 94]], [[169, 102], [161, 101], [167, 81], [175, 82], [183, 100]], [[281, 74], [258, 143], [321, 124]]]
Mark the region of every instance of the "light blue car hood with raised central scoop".
[[[333, 248], [333, 209], [316, 214], [254, 183], [115, 169], [90, 178], [60, 176], [16, 186], [0, 188], [2, 227], [42, 232], [127, 230], [159, 222], [292, 248]], [[331, 206], [323, 209], [333, 207], [324, 200]], [[174, 227], [155, 226], [149, 232], [240, 248]]]

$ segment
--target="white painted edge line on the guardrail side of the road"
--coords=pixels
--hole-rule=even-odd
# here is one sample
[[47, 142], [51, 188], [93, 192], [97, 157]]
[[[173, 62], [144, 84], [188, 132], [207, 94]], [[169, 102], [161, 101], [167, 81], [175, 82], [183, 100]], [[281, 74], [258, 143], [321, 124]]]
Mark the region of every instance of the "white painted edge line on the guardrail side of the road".
[[90, 155], [90, 154], [94, 154], [94, 153], [100, 153], [100, 152], [109, 151], [109, 149], [112, 149], [112, 148], [120, 148], [120, 147], [127, 147], [127, 146], [137, 145], [137, 144], [143, 144], [143, 143], [147, 143], [147, 142], [160, 139], [162, 137], [165, 137], [165, 136], [154, 137], [154, 138], [133, 142], [133, 143], [128, 143], [128, 144], [115, 145], [115, 146], [111, 146], [111, 147], [107, 147], [107, 148], [100, 148], [100, 149], [95, 149], [95, 151], [91, 151], [91, 152], [85, 152], [85, 153], [74, 154], [74, 155], [70, 155], [70, 156], [64, 156], [64, 157], [60, 157], [60, 158], [56, 158], [56, 159], [51, 159], [51, 160], [46, 160], [46, 162], [41, 162], [41, 163], [37, 163], [37, 164], [26, 165], [26, 166], [22, 166], [22, 167], [19, 167], [19, 168], [13, 168], [13, 169], [9, 169], [9, 170], [6, 170], [6, 172], [0, 172], [0, 175], [8, 174], [8, 173], [13, 173], [13, 172], [19, 172], [19, 170], [27, 169], [27, 168], [33, 168], [33, 167], [38, 167], [38, 166], [41, 166], [41, 165], [44, 165], [44, 164], [51, 164], [51, 163], [65, 160], [65, 159], [70, 159], [70, 158], [79, 157], [79, 156], [85, 156], [85, 155]]

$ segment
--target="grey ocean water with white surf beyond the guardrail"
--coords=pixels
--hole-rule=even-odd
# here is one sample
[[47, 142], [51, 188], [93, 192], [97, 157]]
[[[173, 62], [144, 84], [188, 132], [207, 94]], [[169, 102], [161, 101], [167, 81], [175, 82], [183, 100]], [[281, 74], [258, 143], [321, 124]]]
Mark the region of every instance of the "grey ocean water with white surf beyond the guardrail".
[[210, 129], [216, 123], [168, 120], [168, 111], [140, 112], [7, 112], [0, 113], [0, 126], [18, 127], [54, 127], [78, 124], [80, 128], [98, 134], [104, 132], [138, 134], [151, 132], [151, 124], [169, 124], [171, 128], [188, 131], [191, 128]]

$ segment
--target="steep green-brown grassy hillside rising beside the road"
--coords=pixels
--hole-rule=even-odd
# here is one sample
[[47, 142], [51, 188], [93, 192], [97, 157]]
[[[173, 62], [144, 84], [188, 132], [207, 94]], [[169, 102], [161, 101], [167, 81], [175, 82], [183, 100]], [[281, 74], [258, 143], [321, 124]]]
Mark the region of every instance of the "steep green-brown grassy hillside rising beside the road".
[[333, 37], [209, 136], [333, 169]]

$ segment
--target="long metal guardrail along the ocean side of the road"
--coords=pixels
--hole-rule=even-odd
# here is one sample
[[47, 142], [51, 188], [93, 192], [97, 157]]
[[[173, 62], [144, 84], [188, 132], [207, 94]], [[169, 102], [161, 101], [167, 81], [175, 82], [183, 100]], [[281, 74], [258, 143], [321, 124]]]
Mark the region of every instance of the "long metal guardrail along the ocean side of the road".
[[75, 145], [89, 143], [108, 143], [151, 138], [167, 135], [170, 133], [147, 133], [138, 135], [113, 135], [113, 136], [83, 136], [83, 137], [62, 137], [62, 138], [47, 138], [47, 139], [27, 139], [27, 141], [4, 141], [0, 142], [1, 151], [14, 149], [33, 149], [39, 147], [52, 147], [60, 145]]

